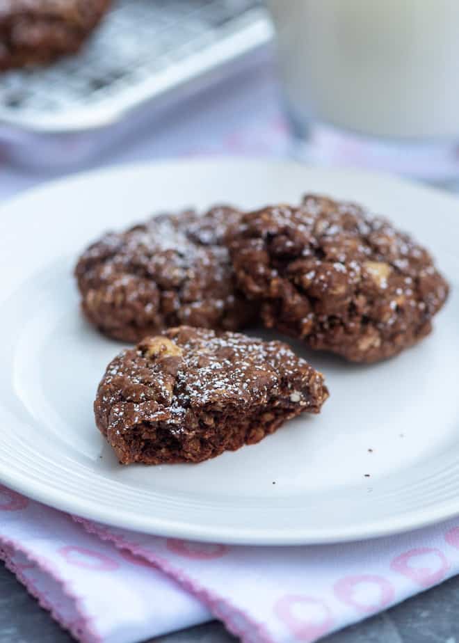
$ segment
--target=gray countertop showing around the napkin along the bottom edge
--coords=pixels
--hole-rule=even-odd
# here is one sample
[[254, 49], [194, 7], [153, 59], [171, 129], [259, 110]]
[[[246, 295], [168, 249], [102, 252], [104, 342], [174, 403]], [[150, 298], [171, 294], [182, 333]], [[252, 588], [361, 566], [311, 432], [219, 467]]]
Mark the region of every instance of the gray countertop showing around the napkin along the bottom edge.
[[[459, 577], [456, 577], [392, 610], [341, 630], [323, 639], [323, 643], [459, 643], [458, 612]], [[0, 642], [72, 642], [4, 566], [0, 566]], [[235, 642], [216, 621], [154, 640], [154, 643]]]

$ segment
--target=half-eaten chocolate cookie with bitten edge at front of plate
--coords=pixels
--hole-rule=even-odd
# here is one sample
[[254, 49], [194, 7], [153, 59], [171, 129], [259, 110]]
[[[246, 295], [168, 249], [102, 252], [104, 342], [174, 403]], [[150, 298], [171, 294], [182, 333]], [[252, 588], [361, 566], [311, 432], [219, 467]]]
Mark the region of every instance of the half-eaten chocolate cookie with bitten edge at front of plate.
[[327, 397], [287, 344], [182, 326], [122, 351], [94, 409], [121, 463], [200, 462], [319, 413]]

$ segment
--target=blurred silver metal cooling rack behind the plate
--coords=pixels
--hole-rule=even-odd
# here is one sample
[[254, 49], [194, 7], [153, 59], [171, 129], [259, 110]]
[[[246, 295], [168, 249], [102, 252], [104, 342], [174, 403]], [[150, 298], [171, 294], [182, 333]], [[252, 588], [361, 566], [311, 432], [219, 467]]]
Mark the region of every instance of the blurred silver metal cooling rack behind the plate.
[[77, 56], [1, 75], [0, 140], [106, 128], [271, 36], [261, 0], [115, 1]]

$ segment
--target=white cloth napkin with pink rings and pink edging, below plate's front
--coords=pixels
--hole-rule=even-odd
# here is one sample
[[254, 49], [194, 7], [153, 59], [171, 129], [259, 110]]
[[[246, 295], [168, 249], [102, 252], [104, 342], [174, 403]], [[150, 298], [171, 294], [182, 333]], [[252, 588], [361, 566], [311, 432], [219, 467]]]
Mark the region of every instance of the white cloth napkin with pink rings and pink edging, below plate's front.
[[343, 545], [224, 546], [72, 518], [0, 486], [0, 557], [84, 643], [211, 617], [243, 643], [310, 643], [459, 573], [459, 520]]

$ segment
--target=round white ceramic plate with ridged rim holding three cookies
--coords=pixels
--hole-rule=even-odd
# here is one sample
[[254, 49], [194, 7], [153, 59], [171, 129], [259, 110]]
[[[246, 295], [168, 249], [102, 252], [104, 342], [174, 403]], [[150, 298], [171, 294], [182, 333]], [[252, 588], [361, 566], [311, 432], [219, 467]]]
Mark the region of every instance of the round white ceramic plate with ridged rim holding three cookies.
[[291, 421], [258, 445], [199, 465], [122, 467], [95, 429], [97, 383], [121, 345], [79, 313], [79, 251], [154, 210], [257, 207], [305, 191], [387, 214], [457, 284], [459, 200], [384, 175], [171, 162], [79, 175], [3, 206], [1, 481], [97, 521], [202, 541], [362, 539], [459, 514], [457, 287], [433, 335], [385, 363], [346, 365], [297, 346], [325, 373], [330, 400], [319, 417]]

